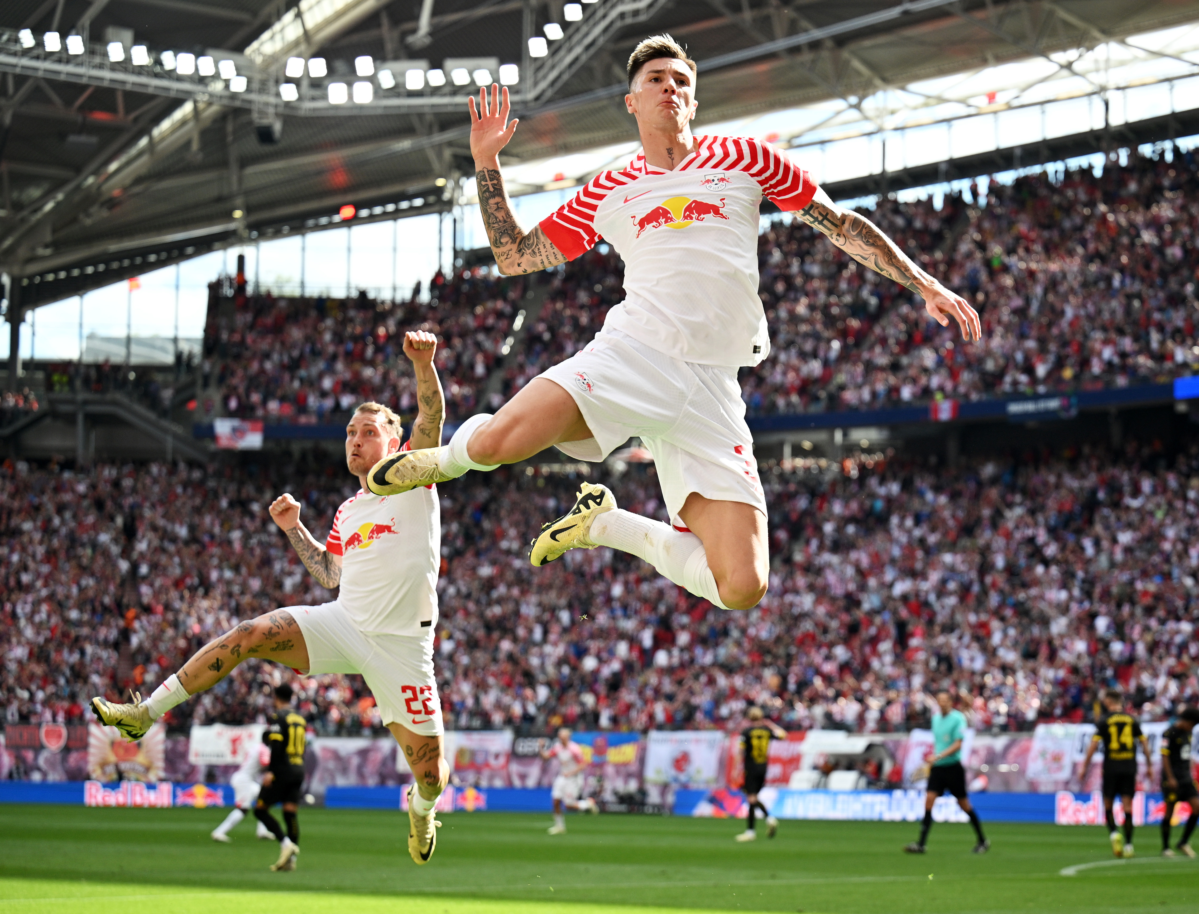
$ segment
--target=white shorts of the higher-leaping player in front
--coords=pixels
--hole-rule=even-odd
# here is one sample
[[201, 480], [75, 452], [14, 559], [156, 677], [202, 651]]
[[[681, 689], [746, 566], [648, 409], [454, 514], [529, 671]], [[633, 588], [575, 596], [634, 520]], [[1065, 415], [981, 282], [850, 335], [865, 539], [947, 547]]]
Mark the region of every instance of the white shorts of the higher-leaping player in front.
[[692, 492], [766, 513], [736, 368], [685, 362], [605, 330], [540, 377], [574, 398], [595, 435], [558, 449], [598, 463], [640, 438], [675, 527], [683, 527], [679, 511]]

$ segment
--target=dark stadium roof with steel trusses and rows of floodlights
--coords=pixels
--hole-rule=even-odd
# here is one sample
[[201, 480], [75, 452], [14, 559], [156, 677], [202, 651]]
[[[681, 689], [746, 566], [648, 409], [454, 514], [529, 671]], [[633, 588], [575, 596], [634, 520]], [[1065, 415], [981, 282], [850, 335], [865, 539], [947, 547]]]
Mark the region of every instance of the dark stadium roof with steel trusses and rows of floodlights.
[[[1032, 82], [1085, 80], [1087, 52], [1194, 20], [1199, 0], [8, 0], [0, 270], [31, 306], [332, 224], [347, 203], [376, 218], [448, 209], [472, 170], [465, 95], [513, 76], [508, 163], [573, 160], [560, 168], [573, 184], [594, 167], [577, 154], [633, 139], [623, 61], [656, 31], [700, 64], [700, 126], [826, 112], [772, 131], [799, 146], [887, 124], [921, 92], [942, 109], [1011, 101], [938, 83], [953, 74], [1031, 59]], [[543, 56], [530, 38], [549, 38]], [[1191, 66], [1188, 53], [1173, 59]], [[995, 85], [1019, 89], [1016, 76]], [[331, 83], [364, 83], [370, 100], [339, 102]]]

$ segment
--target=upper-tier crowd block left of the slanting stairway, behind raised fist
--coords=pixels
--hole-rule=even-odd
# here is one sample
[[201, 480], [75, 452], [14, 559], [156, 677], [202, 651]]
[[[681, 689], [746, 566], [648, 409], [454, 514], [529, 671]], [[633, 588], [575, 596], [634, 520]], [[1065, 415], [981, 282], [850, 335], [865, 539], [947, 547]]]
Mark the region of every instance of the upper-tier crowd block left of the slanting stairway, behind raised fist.
[[458, 419], [480, 401], [522, 307], [522, 278], [486, 267], [438, 273], [429, 300], [246, 297], [205, 331], [201, 385], [219, 390], [222, 413], [275, 422], [319, 423], [364, 399], [402, 414], [416, 404], [416, 381], [402, 357], [405, 330], [441, 337], [436, 363]]

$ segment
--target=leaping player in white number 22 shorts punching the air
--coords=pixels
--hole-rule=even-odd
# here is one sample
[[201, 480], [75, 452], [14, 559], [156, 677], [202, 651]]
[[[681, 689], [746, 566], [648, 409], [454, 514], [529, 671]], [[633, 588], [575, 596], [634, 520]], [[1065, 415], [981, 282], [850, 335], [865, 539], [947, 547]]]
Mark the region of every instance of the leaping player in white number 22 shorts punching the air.
[[[404, 337], [420, 404], [405, 449], [436, 447], [441, 441], [445, 408], [433, 365], [435, 351], [432, 333]], [[116, 704], [92, 698], [91, 706], [102, 723], [139, 739], [167, 710], [211, 688], [248, 657], [311, 674], [360, 673], [416, 778], [408, 792], [408, 852], [417, 864], [426, 864], [436, 847], [440, 824], [433, 808], [450, 775], [433, 675], [440, 505], [432, 486], [388, 497], [366, 491], [366, 474], [400, 450], [402, 437], [399, 416], [387, 407], [363, 403], [354, 413], [345, 427], [345, 463], [363, 488], [337, 510], [324, 545], [300, 523], [300, 503], [290, 494], [271, 504], [271, 518], [312, 576], [323, 587], [339, 588], [336, 600], [291, 606], [240, 623], [188, 660], [149, 699], [134, 696], [132, 704]]]

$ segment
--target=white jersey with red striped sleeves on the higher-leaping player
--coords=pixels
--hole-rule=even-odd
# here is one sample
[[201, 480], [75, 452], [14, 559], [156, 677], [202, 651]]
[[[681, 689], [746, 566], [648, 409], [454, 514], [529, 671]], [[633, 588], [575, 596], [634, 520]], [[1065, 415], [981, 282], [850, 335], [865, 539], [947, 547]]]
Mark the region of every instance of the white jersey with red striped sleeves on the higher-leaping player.
[[758, 204], [784, 211], [817, 186], [782, 152], [745, 137], [695, 137], [673, 172], [638, 154], [602, 172], [541, 228], [567, 259], [601, 237], [625, 259], [625, 301], [604, 329], [700, 365], [758, 365], [770, 354], [758, 297]]

